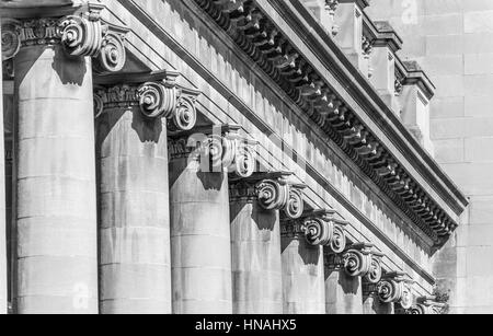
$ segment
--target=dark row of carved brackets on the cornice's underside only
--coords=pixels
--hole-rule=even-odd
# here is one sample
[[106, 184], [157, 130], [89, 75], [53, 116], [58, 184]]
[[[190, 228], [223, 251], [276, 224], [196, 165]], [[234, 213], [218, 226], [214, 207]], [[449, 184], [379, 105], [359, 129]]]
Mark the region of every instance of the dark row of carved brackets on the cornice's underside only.
[[[253, 0], [195, 2], [367, 174], [434, 243], [457, 222], [413, 178], [358, 114]], [[341, 2], [341, 1], [340, 1]], [[272, 3], [271, 3], [272, 4]], [[362, 1], [363, 5], [367, 3]], [[284, 7], [284, 4], [276, 4]], [[446, 192], [444, 192], [446, 193]]]

